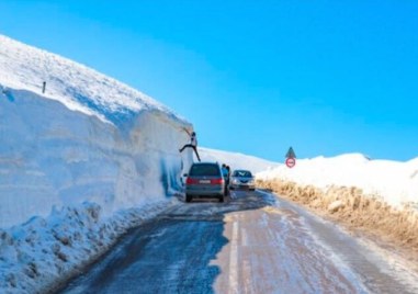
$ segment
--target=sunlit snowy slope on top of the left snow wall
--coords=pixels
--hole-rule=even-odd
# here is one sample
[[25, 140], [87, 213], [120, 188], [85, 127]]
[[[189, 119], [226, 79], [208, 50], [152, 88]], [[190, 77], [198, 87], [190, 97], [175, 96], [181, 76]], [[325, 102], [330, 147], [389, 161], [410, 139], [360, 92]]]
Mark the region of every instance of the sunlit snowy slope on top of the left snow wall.
[[0, 35], [0, 83], [58, 100], [70, 110], [115, 125], [140, 111], [160, 111], [185, 123], [160, 102], [115, 79], [4, 35]]

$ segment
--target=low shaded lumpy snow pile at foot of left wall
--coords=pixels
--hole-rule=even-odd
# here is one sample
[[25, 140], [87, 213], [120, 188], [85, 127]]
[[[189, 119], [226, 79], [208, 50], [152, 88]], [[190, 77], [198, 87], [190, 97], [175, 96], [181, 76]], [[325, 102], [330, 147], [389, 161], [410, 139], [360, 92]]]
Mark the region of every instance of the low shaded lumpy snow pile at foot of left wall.
[[128, 229], [176, 203], [161, 201], [104, 216], [101, 206], [84, 202], [32, 217], [21, 226], [0, 229], [0, 292], [48, 293], [80, 274]]

